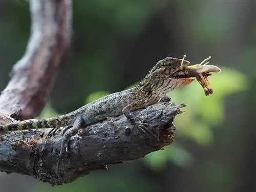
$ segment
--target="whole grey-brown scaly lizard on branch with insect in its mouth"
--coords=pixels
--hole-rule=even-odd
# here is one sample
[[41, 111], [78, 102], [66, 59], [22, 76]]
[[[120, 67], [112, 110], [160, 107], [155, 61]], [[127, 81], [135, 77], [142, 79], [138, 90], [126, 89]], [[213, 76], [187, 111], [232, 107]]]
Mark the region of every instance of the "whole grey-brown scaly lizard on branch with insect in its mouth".
[[[218, 67], [208, 65], [209, 59], [210, 57], [204, 59], [200, 64], [189, 66], [190, 62], [185, 60], [185, 55], [182, 59], [165, 57], [159, 60], [134, 88], [101, 97], [61, 116], [0, 125], [0, 132], [43, 128], [53, 128], [52, 130], [54, 130], [65, 126], [68, 128], [62, 133], [61, 149], [65, 147], [68, 151], [69, 141], [79, 129], [108, 117], [124, 114], [139, 131], [157, 137], [148, 124], [131, 112], [159, 102], [162, 98], [167, 97], [166, 93], [187, 86], [196, 78], [201, 81], [206, 79], [210, 72], [219, 72]], [[207, 82], [200, 84], [205, 90], [211, 89], [206, 87]], [[211, 94], [212, 90], [208, 93]]]

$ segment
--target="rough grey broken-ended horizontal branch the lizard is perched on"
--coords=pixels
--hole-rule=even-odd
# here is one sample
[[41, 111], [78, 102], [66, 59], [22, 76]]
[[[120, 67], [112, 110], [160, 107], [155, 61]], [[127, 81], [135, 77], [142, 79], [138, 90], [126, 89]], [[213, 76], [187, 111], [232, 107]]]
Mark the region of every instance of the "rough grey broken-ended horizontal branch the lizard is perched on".
[[139, 118], [147, 115], [146, 123], [159, 131], [159, 141], [138, 133], [124, 115], [81, 130], [71, 140], [70, 153], [64, 154], [60, 161], [58, 177], [56, 164], [62, 139], [60, 134], [46, 142], [50, 129], [8, 132], [0, 145], [1, 170], [60, 185], [87, 175], [92, 170], [105, 169], [108, 164], [142, 158], [173, 142], [175, 129], [170, 127], [183, 106], [160, 102], [135, 112]]

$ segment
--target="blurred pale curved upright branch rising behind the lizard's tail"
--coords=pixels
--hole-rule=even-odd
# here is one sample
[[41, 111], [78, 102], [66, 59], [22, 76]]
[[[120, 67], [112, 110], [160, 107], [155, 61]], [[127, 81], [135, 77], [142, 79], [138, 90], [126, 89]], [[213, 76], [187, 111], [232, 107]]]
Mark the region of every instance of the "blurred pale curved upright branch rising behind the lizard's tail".
[[54, 79], [70, 47], [71, 0], [30, 1], [31, 36], [0, 96], [0, 111], [24, 120], [37, 116], [48, 101]]

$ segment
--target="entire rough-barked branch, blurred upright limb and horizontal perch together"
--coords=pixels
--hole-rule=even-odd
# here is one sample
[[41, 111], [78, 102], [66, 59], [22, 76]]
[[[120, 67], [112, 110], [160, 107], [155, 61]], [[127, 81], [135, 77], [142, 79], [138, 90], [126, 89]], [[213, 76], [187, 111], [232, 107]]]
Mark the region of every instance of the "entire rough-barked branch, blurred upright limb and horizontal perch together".
[[[0, 124], [30, 119], [41, 112], [70, 46], [71, 0], [31, 0], [30, 10], [31, 37], [0, 96]], [[52, 185], [72, 182], [92, 170], [105, 169], [107, 164], [135, 160], [171, 144], [175, 130], [172, 122], [183, 106], [161, 101], [135, 112], [138, 117], [147, 114], [146, 122], [159, 131], [159, 141], [138, 133], [123, 115], [81, 130], [71, 140], [70, 153], [63, 154], [59, 172], [59, 132], [51, 138], [46, 138], [50, 129], [1, 133], [0, 169]]]

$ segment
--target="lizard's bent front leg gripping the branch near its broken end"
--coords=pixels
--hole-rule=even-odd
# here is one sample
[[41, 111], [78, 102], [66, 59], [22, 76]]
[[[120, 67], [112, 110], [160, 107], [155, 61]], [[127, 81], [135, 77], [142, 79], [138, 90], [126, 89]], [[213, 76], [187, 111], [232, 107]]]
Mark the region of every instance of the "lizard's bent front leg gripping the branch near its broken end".
[[125, 106], [122, 112], [131, 123], [136, 125], [138, 130], [142, 131], [146, 135], [157, 137], [157, 135], [150, 129], [150, 125], [148, 125], [147, 123], [141, 122], [141, 120], [139, 120], [138, 117], [136, 117], [134, 114], [131, 113], [131, 111], [144, 108], [145, 106], [147, 106], [147, 103], [148, 102], [145, 99], [135, 101]]

